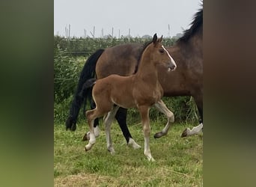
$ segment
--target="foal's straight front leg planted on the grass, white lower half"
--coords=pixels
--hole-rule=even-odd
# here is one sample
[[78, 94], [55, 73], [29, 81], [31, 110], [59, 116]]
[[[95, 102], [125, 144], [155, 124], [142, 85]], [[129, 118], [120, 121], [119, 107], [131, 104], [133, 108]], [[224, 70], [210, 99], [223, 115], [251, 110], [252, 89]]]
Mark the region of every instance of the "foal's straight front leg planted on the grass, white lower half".
[[148, 106], [138, 106], [138, 110], [141, 114], [141, 120], [143, 125], [144, 134], [144, 155], [147, 156], [149, 161], [155, 161], [150, 153], [150, 119], [149, 119], [149, 107]]

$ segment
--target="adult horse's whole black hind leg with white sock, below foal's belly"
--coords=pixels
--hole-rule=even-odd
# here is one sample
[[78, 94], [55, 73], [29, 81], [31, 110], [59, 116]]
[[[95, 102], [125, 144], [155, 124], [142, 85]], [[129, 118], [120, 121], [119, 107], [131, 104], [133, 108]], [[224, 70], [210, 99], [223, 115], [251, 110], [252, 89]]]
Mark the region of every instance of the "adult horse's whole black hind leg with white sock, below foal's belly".
[[123, 132], [124, 138], [127, 140], [127, 144], [131, 145], [134, 149], [141, 148], [141, 146], [133, 140], [132, 135], [129, 133], [129, 129], [127, 127], [127, 108], [119, 108], [115, 118], [118, 120], [118, 125]]

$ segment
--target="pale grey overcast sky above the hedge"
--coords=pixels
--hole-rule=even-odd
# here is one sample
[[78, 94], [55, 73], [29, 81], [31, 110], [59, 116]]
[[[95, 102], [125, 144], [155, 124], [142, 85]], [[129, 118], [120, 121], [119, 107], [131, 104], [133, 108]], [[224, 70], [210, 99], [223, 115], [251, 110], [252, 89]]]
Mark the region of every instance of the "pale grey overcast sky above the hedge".
[[201, 0], [54, 0], [54, 34], [92, 37], [112, 34], [142, 37], [144, 34], [168, 37], [189, 28], [192, 17], [201, 7]]

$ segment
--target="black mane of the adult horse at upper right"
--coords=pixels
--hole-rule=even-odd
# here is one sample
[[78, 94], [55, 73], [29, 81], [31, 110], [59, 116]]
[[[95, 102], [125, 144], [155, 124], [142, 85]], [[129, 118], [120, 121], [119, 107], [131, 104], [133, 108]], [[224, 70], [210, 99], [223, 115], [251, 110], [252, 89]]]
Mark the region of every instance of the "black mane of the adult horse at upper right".
[[[202, 4], [201, 4], [202, 5]], [[198, 28], [201, 28], [203, 25], [203, 7], [195, 13], [194, 20], [191, 22], [191, 27], [183, 32], [183, 37], [180, 37], [177, 40], [179, 42], [187, 42], [190, 37], [197, 33]]]

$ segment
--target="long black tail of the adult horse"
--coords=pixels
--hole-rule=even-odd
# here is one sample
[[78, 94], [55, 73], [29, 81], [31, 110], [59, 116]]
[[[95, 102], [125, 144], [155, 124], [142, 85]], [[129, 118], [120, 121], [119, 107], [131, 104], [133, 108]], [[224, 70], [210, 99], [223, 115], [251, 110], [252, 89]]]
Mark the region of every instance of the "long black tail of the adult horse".
[[[73, 98], [73, 102], [70, 106], [70, 116], [67, 117], [66, 120], [66, 130], [70, 129], [71, 131], [76, 130], [76, 120], [79, 115], [79, 110], [81, 108], [82, 102], [86, 100], [88, 90], [85, 90], [81, 93], [83, 90], [84, 83], [91, 78], [95, 77], [95, 67], [97, 64], [97, 60], [100, 58], [100, 55], [102, 55], [104, 52], [104, 49], [99, 49], [97, 52], [94, 52], [93, 55], [91, 55], [88, 60], [85, 62], [85, 65], [82, 69], [81, 75], [79, 77], [79, 83], [76, 88], [76, 93]], [[81, 93], [81, 94], [80, 94]]]

